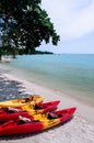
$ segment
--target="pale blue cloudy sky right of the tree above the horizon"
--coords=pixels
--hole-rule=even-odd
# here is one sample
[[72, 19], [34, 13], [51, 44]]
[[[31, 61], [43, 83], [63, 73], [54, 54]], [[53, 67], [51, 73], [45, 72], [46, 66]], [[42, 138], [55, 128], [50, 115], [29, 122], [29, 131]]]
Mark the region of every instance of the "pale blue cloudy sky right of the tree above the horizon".
[[56, 54], [94, 54], [94, 0], [42, 0], [60, 35], [58, 46], [43, 43], [38, 50]]

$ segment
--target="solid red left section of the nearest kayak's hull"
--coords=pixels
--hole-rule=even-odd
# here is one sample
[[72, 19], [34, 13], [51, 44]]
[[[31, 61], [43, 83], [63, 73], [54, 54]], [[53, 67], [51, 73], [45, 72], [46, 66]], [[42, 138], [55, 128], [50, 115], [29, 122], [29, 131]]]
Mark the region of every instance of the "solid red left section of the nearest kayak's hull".
[[0, 135], [25, 134], [42, 131], [43, 123], [34, 122], [17, 125], [12, 120], [0, 127]]

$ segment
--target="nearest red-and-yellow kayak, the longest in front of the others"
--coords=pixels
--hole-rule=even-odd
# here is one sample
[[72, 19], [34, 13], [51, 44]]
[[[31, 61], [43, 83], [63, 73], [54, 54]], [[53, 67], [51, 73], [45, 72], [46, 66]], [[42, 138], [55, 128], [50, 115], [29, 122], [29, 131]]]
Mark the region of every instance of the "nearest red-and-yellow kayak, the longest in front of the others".
[[25, 121], [21, 117], [16, 121], [11, 120], [9, 122], [0, 125], [0, 135], [9, 134], [24, 134], [39, 132], [57, 124], [68, 121], [74, 113], [77, 108], [69, 108], [63, 110], [58, 110], [54, 112], [40, 113], [34, 116], [34, 120], [31, 118]]

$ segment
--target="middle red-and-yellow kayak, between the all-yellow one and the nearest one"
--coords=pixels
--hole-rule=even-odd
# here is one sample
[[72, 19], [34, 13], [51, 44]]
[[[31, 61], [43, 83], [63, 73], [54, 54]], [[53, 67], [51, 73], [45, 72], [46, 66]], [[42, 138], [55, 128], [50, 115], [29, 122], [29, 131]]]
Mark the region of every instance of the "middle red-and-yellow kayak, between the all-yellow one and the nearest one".
[[44, 113], [47, 111], [51, 111], [57, 108], [59, 105], [59, 100], [57, 101], [49, 101], [49, 102], [44, 102], [44, 103], [36, 103], [35, 106], [28, 105], [28, 106], [23, 106], [21, 108], [1, 108], [0, 109], [0, 121], [9, 121], [9, 120], [14, 120], [19, 116], [24, 116], [24, 117], [32, 117], [36, 113]]

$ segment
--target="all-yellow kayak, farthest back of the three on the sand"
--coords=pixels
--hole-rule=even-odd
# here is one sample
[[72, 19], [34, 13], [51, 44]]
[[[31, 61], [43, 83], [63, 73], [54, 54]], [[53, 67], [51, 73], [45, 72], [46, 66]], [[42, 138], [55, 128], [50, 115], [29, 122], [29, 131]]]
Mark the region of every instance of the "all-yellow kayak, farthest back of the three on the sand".
[[33, 95], [28, 98], [20, 98], [20, 99], [13, 99], [13, 100], [8, 100], [8, 101], [1, 101], [0, 107], [1, 108], [7, 108], [7, 107], [22, 107], [27, 103], [34, 105], [34, 103], [39, 103], [43, 102], [44, 98], [40, 96]]

